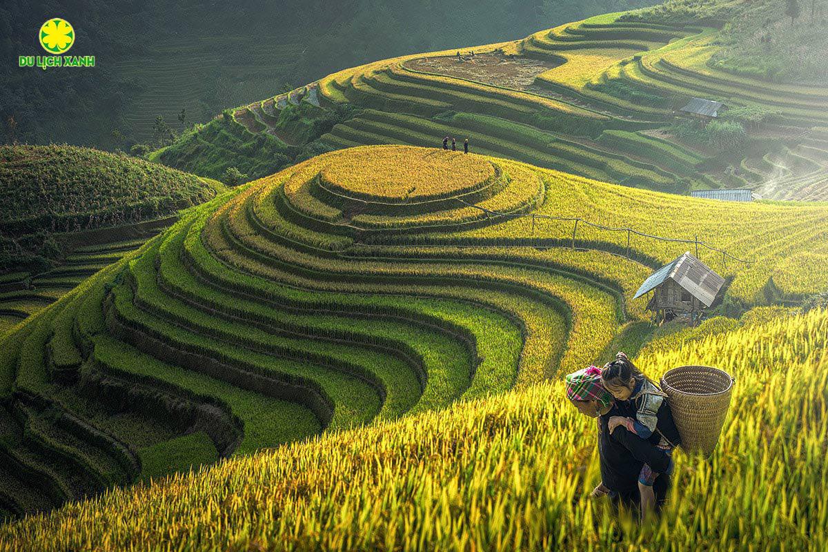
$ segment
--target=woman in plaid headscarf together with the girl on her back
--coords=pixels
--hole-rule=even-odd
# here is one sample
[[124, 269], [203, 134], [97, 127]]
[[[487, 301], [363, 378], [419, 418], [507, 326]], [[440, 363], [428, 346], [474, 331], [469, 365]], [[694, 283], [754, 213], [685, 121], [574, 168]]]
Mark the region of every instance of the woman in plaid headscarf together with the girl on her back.
[[624, 353], [566, 376], [566, 396], [581, 414], [598, 418], [601, 482], [593, 497], [617, 506], [658, 511], [670, 486], [672, 450], [681, 444], [667, 395]]

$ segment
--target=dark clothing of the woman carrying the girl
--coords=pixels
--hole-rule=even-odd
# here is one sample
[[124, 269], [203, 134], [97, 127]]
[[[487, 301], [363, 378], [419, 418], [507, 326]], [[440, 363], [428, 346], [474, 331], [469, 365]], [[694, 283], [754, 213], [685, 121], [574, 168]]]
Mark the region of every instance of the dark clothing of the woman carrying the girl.
[[638, 502], [638, 474], [647, 463], [656, 478], [653, 491], [657, 502], [662, 502], [670, 487], [670, 478], [665, 473], [670, 466], [670, 457], [655, 444], [641, 439], [623, 426], [609, 434], [608, 424], [612, 416], [634, 418], [635, 405], [632, 401], [614, 401], [613, 406], [598, 419], [598, 454], [601, 480], [610, 490], [618, 493], [623, 502]]

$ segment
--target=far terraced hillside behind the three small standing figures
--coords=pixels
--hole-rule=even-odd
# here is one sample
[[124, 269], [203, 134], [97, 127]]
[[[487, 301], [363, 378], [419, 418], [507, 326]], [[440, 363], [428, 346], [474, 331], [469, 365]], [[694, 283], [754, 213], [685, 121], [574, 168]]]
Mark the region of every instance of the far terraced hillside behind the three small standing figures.
[[[696, 4], [343, 70], [225, 111], [152, 159], [213, 178], [228, 166], [258, 177], [310, 153], [468, 137], [478, 153], [650, 190], [828, 199], [828, 86], [727, 70], [725, 23], [748, 17], [750, 4]], [[691, 98], [724, 108], [682, 112]]]

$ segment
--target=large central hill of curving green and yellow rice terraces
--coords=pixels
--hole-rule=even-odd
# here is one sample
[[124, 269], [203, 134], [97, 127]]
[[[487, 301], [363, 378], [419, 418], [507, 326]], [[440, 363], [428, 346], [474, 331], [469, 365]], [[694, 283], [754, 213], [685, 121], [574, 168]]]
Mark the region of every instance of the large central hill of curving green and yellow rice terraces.
[[2, 339], [0, 509], [528, 388], [651, 333], [631, 297], [686, 243], [532, 228], [585, 204], [755, 260], [701, 252], [745, 307], [828, 283], [796, 277], [828, 257], [819, 204], [722, 207], [436, 148], [331, 152], [182, 212]]

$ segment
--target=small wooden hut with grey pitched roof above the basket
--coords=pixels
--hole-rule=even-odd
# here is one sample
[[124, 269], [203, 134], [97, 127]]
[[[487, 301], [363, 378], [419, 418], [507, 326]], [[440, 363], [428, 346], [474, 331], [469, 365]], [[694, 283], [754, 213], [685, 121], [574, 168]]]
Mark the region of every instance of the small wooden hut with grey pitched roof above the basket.
[[723, 285], [724, 278], [688, 251], [653, 272], [633, 299], [655, 290], [647, 310], [659, 314], [662, 319], [676, 314], [691, 314], [692, 318], [693, 314], [713, 305]]

